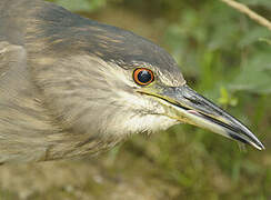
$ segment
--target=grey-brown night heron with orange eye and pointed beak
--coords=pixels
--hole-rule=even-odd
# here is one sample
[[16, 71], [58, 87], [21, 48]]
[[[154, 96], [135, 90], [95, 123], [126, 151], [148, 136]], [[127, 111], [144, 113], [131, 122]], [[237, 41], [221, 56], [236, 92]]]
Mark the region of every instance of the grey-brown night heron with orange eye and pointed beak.
[[49, 2], [0, 1], [0, 162], [98, 153], [181, 122], [264, 148], [154, 43]]

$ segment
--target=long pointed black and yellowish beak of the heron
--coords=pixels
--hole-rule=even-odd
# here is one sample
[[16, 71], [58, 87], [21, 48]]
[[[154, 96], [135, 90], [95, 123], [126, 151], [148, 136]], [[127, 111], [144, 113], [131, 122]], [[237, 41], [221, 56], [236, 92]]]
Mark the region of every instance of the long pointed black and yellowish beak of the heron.
[[257, 137], [240, 121], [187, 84], [181, 87], [153, 84], [138, 91], [159, 100], [165, 108], [165, 114], [172, 119], [249, 143], [259, 150], [264, 149]]

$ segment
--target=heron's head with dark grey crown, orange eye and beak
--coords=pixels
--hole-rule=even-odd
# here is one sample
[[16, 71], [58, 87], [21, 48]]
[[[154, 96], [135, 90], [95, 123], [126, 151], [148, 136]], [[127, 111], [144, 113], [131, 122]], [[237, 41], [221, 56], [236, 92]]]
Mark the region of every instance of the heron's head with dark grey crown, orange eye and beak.
[[67, 23], [42, 27], [50, 36], [42, 56], [50, 52], [53, 62], [36, 58], [37, 82], [61, 127], [124, 138], [189, 123], [264, 149], [240, 121], [193, 91], [162, 48], [80, 17]]

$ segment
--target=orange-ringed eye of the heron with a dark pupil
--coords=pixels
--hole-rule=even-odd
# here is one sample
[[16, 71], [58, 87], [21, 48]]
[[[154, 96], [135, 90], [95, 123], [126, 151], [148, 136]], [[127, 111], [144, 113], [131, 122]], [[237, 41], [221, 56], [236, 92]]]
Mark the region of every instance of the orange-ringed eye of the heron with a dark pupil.
[[147, 68], [137, 68], [133, 71], [133, 80], [137, 84], [147, 86], [154, 80], [153, 72]]

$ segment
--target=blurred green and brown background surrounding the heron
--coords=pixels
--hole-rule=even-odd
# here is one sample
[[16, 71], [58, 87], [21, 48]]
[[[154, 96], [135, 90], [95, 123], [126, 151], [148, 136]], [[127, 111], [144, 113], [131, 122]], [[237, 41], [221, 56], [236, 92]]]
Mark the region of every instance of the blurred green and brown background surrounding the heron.
[[[3, 166], [0, 199], [271, 199], [270, 31], [218, 0], [54, 2], [159, 43], [267, 150], [181, 124], [97, 158]], [[270, 0], [241, 2], [271, 19]]]

